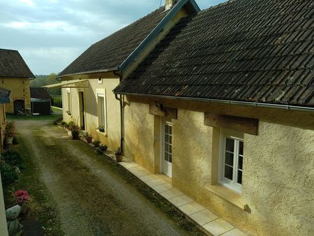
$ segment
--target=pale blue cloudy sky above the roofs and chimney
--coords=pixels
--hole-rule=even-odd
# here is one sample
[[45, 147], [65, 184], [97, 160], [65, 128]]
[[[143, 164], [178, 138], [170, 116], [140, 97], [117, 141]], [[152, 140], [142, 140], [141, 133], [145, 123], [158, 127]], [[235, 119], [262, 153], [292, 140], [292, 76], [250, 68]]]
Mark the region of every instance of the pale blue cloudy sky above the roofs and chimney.
[[[196, 1], [205, 9], [226, 0]], [[19, 50], [36, 75], [59, 73], [92, 43], [159, 5], [160, 0], [0, 0], [0, 48]]]

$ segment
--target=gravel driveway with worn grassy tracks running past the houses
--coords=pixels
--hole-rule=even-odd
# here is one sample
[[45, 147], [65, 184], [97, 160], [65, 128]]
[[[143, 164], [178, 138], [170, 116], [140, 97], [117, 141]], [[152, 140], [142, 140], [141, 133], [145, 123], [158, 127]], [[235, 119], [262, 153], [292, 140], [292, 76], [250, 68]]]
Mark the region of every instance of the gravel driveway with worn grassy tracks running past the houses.
[[[138, 190], [124, 170], [50, 120], [20, 120], [66, 235], [203, 235]], [[29, 153], [31, 153], [29, 152]]]

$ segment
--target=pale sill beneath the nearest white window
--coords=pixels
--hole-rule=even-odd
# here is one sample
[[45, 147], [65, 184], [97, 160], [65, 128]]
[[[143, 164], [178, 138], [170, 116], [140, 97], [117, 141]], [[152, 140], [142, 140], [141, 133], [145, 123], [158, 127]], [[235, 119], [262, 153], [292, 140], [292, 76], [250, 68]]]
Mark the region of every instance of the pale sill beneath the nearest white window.
[[233, 205], [241, 209], [244, 209], [246, 212], [250, 212], [250, 208], [248, 207], [246, 202], [241, 200], [241, 195], [239, 193], [235, 193], [234, 191], [220, 185], [208, 184], [207, 186], [205, 186], [205, 188], [211, 193], [214, 193], [215, 195], [219, 196], [220, 198], [223, 198], [228, 202], [232, 203]]

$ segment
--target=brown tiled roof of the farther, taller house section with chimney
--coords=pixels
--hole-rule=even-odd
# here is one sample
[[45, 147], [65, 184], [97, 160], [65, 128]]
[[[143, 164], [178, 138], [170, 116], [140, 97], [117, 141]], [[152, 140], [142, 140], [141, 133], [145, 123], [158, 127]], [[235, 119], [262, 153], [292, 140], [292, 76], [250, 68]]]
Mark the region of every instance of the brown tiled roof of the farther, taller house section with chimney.
[[105, 71], [117, 68], [140, 45], [142, 40], [165, 17], [165, 7], [142, 17], [127, 27], [91, 45], [80, 57], [77, 57], [59, 77], [74, 73]]

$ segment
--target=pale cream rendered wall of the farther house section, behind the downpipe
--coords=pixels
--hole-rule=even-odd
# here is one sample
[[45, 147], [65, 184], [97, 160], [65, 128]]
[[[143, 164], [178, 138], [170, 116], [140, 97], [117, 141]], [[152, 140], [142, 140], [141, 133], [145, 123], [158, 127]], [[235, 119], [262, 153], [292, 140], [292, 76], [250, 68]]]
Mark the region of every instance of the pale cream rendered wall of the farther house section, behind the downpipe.
[[[63, 102], [63, 120], [66, 122], [75, 121], [80, 124], [80, 106], [79, 106], [79, 91], [84, 92], [85, 103], [85, 124], [86, 131], [91, 134], [94, 140], [100, 140], [104, 145], [112, 150], [120, 146], [120, 105], [115, 98], [112, 90], [119, 84], [119, 79], [103, 79], [103, 84], [98, 84], [98, 78], [89, 79], [89, 88], [71, 88], [71, 105], [72, 114], [66, 114], [67, 108], [67, 89], [62, 89]], [[97, 106], [97, 89], [105, 90], [105, 101], [107, 108], [107, 131], [100, 133], [98, 128], [98, 106]]]

